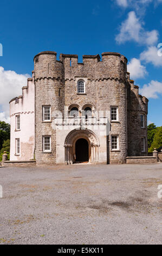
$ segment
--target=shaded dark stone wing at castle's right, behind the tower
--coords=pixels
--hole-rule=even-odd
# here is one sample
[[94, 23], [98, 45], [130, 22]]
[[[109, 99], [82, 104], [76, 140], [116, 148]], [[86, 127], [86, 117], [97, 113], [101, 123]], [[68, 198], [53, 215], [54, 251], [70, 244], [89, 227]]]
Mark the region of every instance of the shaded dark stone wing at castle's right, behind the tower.
[[[138, 93], [139, 87], [127, 79], [127, 142], [128, 156], [147, 156], [147, 104], [146, 97]], [[145, 127], [140, 126], [140, 114], [145, 116]], [[145, 137], [145, 152], [141, 152], [141, 138]]]

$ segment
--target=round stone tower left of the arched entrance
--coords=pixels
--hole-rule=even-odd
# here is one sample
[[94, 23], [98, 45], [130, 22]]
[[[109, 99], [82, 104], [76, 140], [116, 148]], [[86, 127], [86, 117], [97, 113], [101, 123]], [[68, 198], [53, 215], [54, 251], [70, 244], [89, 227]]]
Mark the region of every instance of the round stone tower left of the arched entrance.
[[[56, 130], [52, 121], [56, 111], [63, 114], [64, 107], [64, 69], [62, 62], [56, 60], [56, 54], [46, 51], [34, 57], [35, 159], [38, 164], [56, 164]], [[45, 108], [48, 114], [44, 119]], [[44, 138], [50, 140], [47, 150], [43, 150]]]

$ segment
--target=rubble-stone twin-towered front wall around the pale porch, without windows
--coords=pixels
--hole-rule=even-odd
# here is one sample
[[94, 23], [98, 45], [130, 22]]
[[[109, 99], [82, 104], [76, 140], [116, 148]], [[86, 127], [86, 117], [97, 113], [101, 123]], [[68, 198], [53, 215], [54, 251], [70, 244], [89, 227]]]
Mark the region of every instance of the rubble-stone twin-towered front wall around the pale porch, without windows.
[[[60, 54], [58, 61], [56, 52], [42, 52], [35, 56], [34, 65], [37, 163], [56, 163], [56, 131], [52, 123], [42, 122], [42, 105], [51, 105], [52, 114], [58, 110], [63, 115], [63, 107], [68, 109], [72, 104], [80, 109], [86, 104], [92, 105], [96, 111], [105, 111], [109, 121], [111, 106], [119, 107], [119, 121], [111, 123], [111, 131], [107, 134], [107, 158], [110, 163], [125, 163], [127, 59], [119, 53], [105, 52], [102, 61], [99, 55], [83, 56], [83, 63], [78, 63], [74, 54]], [[86, 82], [86, 92], [82, 95], [77, 94], [77, 81], [81, 78]], [[62, 89], [61, 97], [58, 96], [59, 88]], [[42, 153], [43, 135], [51, 135], [51, 153]], [[111, 151], [111, 135], [119, 135], [119, 150]]]

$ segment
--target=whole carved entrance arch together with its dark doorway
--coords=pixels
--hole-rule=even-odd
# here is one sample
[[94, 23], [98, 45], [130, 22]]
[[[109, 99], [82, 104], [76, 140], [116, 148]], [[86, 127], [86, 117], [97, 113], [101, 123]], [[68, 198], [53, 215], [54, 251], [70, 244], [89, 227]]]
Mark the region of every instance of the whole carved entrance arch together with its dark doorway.
[[[82, 139], [79, 141], [79, 139]], [[78, 141], [78, 142], [77, 142]], [[86, 141], [86, 142], [85, 142]], [[88, 147], [87, 147], [88, 143]], [[88, 148], [88, 157], [83, 156], [80, 153], [80, 148], [82, 151]], [[99, 161], [99, 141], [95, 133], [88, 129], [74, 129], [70, 131], [64, 141], [64, 161], [67, 164], [72, 164], [75, 162], [98, 162]], [[84, 149], [83, 149], [84, 148]], [[87, 153], [85, 153], [87, 155]]]

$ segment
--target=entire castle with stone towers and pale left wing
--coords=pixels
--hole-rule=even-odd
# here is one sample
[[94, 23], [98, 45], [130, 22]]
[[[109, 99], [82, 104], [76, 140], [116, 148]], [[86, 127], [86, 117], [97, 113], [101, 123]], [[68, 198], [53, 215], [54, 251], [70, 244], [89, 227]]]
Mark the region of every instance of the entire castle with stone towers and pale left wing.
[[10, 160], [126, 163], [147, 156], [147, 103], [120, 53], [40, 52], [22, 95], [10, 101]]

